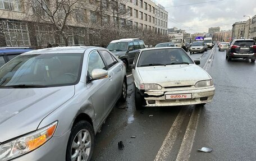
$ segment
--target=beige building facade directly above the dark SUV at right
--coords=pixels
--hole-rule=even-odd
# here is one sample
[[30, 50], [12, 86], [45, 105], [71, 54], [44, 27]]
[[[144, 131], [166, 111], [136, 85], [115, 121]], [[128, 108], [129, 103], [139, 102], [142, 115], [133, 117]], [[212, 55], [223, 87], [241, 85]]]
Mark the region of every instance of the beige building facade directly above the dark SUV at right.
[[246, 21], [235, 22], [235, 24], [232, 25], [232, 40], [244, 39], [245, 24]]

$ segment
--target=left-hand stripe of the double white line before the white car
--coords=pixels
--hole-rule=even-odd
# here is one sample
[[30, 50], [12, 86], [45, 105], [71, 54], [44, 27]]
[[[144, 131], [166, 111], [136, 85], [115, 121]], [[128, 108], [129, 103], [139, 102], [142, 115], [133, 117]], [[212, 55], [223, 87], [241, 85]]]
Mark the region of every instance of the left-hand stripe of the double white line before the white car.
[[188, 109], [182, 108], [178, 116], [176, 117], [175, 121], [173, 122], [172, 127], [166, 136], [166, 139], [164, 139], [163, 144], [159, 149], [154, 161], [167, 159], [172, 149], [172, 146], [177, 138], [177, 135], [179, 134], [181, 124], [186, 116], [186, 113], [188, 113]]

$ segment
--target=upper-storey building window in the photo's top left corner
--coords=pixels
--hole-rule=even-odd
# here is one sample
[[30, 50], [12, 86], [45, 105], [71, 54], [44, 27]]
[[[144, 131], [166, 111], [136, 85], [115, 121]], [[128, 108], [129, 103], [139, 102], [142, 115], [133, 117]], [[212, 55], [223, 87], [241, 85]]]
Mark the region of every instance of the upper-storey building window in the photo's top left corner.
[[0, 0], [0, 8], [4, 10], [21, 11], [19, 0]]

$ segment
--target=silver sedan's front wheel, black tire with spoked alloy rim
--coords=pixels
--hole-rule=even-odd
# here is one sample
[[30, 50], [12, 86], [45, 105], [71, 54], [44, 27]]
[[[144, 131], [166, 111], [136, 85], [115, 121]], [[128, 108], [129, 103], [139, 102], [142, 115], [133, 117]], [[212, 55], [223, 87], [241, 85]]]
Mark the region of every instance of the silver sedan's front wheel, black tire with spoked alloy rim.
[[[87, 134], [86, 138], [84, 138], [85, 134]], [[81, 135], [80, 141], [78, 135]], [[74, 143], [76, 143], [77, 148], [75, 148]], [[91, 160], [94, 145], [95, 136], [92, 125], [85, 120], [77, 122], [72, 127], [71, 134], [67, 142], [66, 161], [71, 161], [72, 157], [79, 157], [79, 154], [82, 154], [83, 160]], [[86, 146], [88, 146], [88, 148], [86, 148]], [[77, 160], [77, 158], [73, 160]]]

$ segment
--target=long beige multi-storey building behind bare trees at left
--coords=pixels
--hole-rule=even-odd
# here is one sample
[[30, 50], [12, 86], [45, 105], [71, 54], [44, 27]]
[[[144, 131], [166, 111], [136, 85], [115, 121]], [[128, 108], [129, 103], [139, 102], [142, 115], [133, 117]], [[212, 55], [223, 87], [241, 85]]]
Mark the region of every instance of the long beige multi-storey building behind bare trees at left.
[[[40, 48], [46, 47], [48, 43], [56, 44], [56, 40], [60, 45], [65, 45], [63, 36], [54, 33], [51, 24], [28, 17], [35, 11], [28, 9], [27, 1], [29, 0], [0, 0], [0, 46]], [[93, 29], [103, 23], [113, 23], [120, 27], [133, 25], [158, 34], [167, 34], [168, 12], [153, 1], [86, 0], [83, 3], [86, 3], [84, 8], [81, 7], [79, 12], [67, 19], [69, 27], [65, 29], [65, 33], [68, 34], [68, 45], [100, 45], [95, 36], [99, 33]], [[118, 7], [112, 10], [113, 4], [111, 6], [110, 3], [118, 4]], [[38, 10], [42, 10], [40, 5]], [[120, 10], [125, 12], [118, 12]], [[43, 10], [42, 14], [45, 14]], [[74, 31], [79, 33], [79, 36], [75, 35]]]

